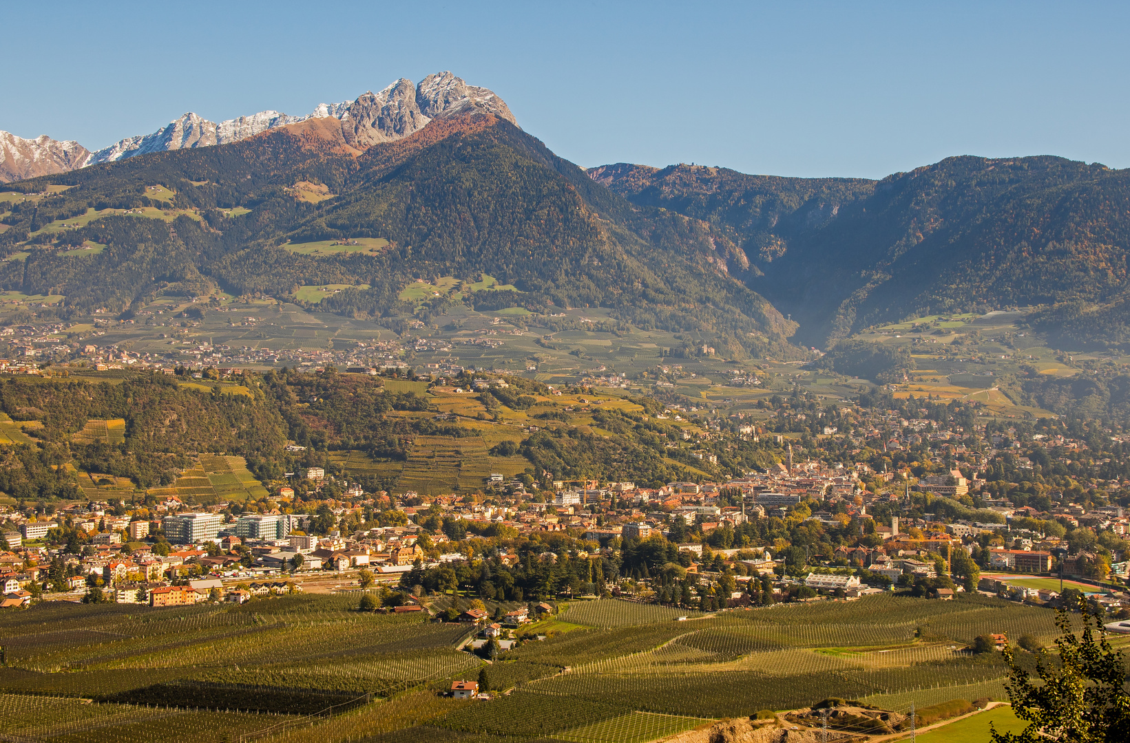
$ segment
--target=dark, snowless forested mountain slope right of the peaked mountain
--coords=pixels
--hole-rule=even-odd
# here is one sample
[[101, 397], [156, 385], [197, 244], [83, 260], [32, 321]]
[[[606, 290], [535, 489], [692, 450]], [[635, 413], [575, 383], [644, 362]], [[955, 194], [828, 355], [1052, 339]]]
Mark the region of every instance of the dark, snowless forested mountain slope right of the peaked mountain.
[[[635, 203], [710, 221], [798, 339], [907, 316], [1042, 305], [1064, 342], [1125, 340], [1130, 173], [1058, 157], [954, 157], [879, 182], [605, 166]], [[1058, 305], [1058, 306], [1057, 306]]]

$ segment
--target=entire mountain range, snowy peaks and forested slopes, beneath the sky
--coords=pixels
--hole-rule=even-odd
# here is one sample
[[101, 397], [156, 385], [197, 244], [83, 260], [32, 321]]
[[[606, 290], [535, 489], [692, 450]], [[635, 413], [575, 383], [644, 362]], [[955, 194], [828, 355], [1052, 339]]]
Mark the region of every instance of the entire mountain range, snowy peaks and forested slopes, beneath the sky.
[[[798, 342], [828, 348], [877, 323], [1007, 307], [1034, 308], [1064, 347], [1130, 343], [1130, 172], [1099, 164], [962, 156], [879, 181], [583, 169], [451, 72], [305, 116], [185, 114], [95, 152], [0, 143], [8, 189], [77, 186], [0, 212], [0, 253], [28, 255], [0, 264], [0, 286], [62, 294], [76, 311], [209, 286], [282, 297], [351, 283], [370, 288], [321, 308], [395, 325], [412, 312], [397, 299], [405, 282], [486, 272], [516, 290], [475, 303], [601, 306], [625, 330], [680, 333], [685, 351], [709, 338], [733, 357], [800, 357]], [[155, 184], [172, 202], [147, 195]], [[103, 212], [44, 229], [153, 206], [164, 220]], [[388, 248], [287, 248], [360, 237]], [[62, 257], [82, 241], [107, 248]]]

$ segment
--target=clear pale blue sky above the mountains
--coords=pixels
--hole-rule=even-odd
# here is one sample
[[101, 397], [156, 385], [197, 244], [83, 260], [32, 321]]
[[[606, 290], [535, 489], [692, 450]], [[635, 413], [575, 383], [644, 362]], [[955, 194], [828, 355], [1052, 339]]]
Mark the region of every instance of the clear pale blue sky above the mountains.
[[0, 129], [104, 147], [452, 70], [580, 165], [1130, 166], [1128, 3], [8, 3]]

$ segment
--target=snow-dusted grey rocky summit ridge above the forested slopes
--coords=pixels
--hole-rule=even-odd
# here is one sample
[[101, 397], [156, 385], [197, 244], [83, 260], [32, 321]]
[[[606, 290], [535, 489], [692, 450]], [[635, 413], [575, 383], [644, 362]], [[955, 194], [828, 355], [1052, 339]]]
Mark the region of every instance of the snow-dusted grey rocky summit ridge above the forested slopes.
[[95, 152], [77, 142], [60, 142], [45, 136], [29, 140], [2, 132], [0, 182], [66, 173], [148, 152], [237, 142], [312, 119], [337, 119], [345, 141], [365, 150], [417, 132], [434, 119], [476, 112], [515, 123], [506, 103], [494, 91], [467, 85], [451, 72], [441, 72], [427, 76], [419, 84], [401, 78], [380, 93], [367, 91], [351, 103], [319, 104], [305, 116], [260, 111], [217, 123], [189, 112], [153, 133], [128, 137]]

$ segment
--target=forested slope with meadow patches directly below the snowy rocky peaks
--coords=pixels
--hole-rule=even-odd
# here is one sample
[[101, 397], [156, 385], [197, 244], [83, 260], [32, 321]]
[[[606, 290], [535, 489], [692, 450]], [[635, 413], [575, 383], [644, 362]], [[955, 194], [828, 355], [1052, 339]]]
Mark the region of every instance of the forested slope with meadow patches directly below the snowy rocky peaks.
[[[697, 219], [634, 208], [490, 114], [436, 120], [364, 152], [339, 130], [304, 122], [9, 187], [43, 193], [49, 183], [75, 187], [11, 203], [0, 252], [26, 259], [3, 264], [0, 281], [66, 295], [77, 309], [121, 312], [215, 285], [281, 297], [303, 285], [350, 283], [371, 288], [325, 307], [391, 317], [410, 312], [397, 295], [414, 278], [486, 272], [519, 289], [494, 292], [502, 306], [602, 306], [636, 326], [704, 333], [720, 352], [790, 352], [783, 339], [794, 324], [728, 274], [737, 256], [724, 236]], [[325, 195], [303, 199], [302, 184]], [[154, 185], [172, 200], [157, 200]], [[288, 250], [359, 237], [389, 245], [318, 256]], [[105, 247], [66, 250], [92, 244]]]

